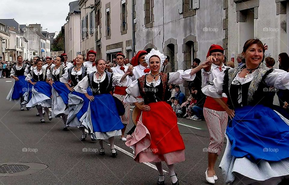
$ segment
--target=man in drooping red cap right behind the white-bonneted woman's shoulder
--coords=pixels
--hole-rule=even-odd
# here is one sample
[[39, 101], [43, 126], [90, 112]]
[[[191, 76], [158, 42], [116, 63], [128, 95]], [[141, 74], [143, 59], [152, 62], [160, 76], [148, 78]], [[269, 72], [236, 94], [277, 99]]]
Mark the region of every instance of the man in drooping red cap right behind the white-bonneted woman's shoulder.
[[144, 60], [144, 57], [148, 52], [141, 50], [132, 58], [132, 80], [139, 79], [141, 76], [151, 72], [151, 69], [148, 67], [148, 63]]

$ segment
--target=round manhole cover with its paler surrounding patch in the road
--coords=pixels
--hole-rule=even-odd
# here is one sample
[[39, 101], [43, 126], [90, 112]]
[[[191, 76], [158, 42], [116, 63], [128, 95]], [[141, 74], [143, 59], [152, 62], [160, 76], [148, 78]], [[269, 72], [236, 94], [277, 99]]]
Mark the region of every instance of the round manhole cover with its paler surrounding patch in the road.
[[34, 174], [46, 168], [47, 165], [36, 162], [3, 162], [0, 163], [0, 177]]

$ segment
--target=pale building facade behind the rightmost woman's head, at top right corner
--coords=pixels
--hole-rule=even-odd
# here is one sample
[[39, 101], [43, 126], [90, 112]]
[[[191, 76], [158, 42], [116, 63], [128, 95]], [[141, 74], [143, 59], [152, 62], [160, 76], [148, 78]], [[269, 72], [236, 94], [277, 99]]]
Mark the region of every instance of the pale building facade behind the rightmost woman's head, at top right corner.
[[266, 56], [278, 66], [278, 54], [289, 52], [287, 0], [227, 0], [228, 57], [236, 58], [247, 39], [258, 38], [268, 45]]

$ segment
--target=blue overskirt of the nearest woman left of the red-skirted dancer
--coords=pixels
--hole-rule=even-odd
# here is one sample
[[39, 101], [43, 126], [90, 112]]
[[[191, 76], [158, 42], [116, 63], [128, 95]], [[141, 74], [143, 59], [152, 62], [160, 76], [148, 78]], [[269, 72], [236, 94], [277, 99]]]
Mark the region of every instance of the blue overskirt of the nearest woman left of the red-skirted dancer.
[[95, 95], [90, 102], [93, 132], [109, 132], [124, 128], [110, 94]]

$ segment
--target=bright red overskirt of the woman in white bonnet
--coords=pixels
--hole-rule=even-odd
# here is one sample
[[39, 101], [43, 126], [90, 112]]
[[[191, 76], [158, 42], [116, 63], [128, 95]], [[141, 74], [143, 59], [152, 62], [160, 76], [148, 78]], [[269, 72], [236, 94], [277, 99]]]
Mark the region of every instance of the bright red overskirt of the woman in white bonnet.
[[154, 154], [166, 154], [185, 149], [177, 125], [176, 113], [166, 102], [149, 103], [150, 111], [142, 111], [142, 123], [151, 135]]

